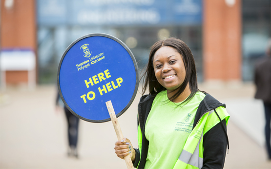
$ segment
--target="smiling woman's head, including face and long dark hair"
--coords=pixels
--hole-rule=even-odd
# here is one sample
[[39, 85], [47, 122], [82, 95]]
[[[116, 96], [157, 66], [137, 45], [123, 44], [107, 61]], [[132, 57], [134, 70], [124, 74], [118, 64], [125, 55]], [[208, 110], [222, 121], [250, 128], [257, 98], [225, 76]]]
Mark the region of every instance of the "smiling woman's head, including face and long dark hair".
[[[161, 62], [158, 61], [164, 57], [167, 58], [168, 63], [166, 65], [165, 63], [161, 64]], [[165, 61], [166, 60], [164, 60], [164, 62]], [[175, 79], [178, 79], [175, 81], [175, 83], [178, 83], [178, 85], [176, 84], [177, 88], [172, 88], [173, 90], [171, 88], [166, 88], [166, 86], [164, 86], [165, 82], [167, 82], [167, 84], [171, 84], [172, 81], [168, 82], [164, 80], [163, 83], [163, 80], [161, 81], [157, 78], [156, 74], [159, 72], [160, 69], [158, 68], [160, 67], [162, 67], [162, 71], [160, 72], [163, 75], [168, 74], [177, 76], [175, 77]], [[175, 72], [177, 70], [178, 74]], [[146, 92], [147, 88], [149, 93], [153, 95], [156, 95], [163, 90], [168, 90], [168, 98], [171, 101], [177, 99], [183, 92], [184, 95], [182, 96], [188, 96], [185, 98], [187, 98], [186, 100], [189, 100], [198, 91], [196, 65], [193, 54], [190, 48], [183, 41], [175, 38], [158, 41], [152, 46], [149, 54], [149, 61], [146, 66], [146, 72], [142, 78], [145, 79], [143, 93]], [[179, 97], [179, 99], [175, 101], [181, 102], [183, 100]]]

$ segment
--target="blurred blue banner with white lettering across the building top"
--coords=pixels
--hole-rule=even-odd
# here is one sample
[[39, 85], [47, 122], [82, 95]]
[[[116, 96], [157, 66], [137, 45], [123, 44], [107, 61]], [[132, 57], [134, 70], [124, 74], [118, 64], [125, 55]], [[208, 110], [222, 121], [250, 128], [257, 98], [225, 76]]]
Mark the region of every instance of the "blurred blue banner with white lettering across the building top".
[[202, 0], [37, 0], [39, 25], [201, 24]]

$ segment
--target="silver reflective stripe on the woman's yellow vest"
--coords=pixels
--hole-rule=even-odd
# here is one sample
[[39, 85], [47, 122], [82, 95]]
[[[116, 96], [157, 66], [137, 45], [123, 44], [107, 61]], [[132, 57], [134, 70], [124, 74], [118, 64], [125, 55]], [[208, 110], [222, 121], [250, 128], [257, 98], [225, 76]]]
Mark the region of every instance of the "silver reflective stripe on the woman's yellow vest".
[[179, 160], [181, 160], [182, 162], [186, 164], [189, 164], [191, 166], [201, 169], [203, 166], [203, 158], [199, 157], [199, 145], [200, 145], [202, 137], [203, 137], [203, 133], [201, 134], [200, 140], [194, 150], [194, 153], [192, 154], [186, 150], [183, 150], [179, 157]]

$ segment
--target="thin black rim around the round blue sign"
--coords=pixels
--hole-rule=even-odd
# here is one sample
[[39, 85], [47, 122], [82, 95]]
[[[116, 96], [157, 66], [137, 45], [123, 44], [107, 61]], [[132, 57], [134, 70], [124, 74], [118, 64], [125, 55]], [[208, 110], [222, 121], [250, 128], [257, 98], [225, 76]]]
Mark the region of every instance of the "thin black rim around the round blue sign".
[[[131, 97], [130, 101], [128, 102], [128, 104], [125, 106], [125, 108], [118, 114], [116, 114], [116, 117], [120, 117], [122, 114], [124, 114], [124, 112], [130, 107], [130, 105], [132, 104], [132, 102], [134, 101], [134, 98], [136, 97], [136, 94], [137, 94], [137, 91], [138, 91], [138, 86], [139, 86], [139, 74], [138, 74], [138, 66], [137, 66], [137, 63], [136, 63], [136, 60], [135, 60], [135, 57], [133, 55], [133, 53], [131, 52], [131, 50], [125, 45], [125, 43], [123, 43], [121, 40], [119, 40], [118, 38], [114, 37], [114, 36], [111, 36], [111, 35], [108, 35], [108, 34], [105, 34], [105, 33], [91, 33], [91, 34], [87, 34], [87, 35], [84, 35], [80, 38], [78, 38], [77, 40], [75, 40], [73, 43], [71, 43], [68, 48], [66, 48], [66, 50], [64, 51], [62, 57], [61, 57], [61, 60], [59, 62], [59, 66], [58, 66], [58, 72], [57, 72], [57, 85], [58, 85], [58, 92], [59, 92], [59, 95], [64, 103], [64, 105], [66, 106], [66, 108], [72, 113], [74, 114], [76, 117], [84, 120], [84, 121], [88, 121], [88, 122], [95, 122], [95, 123], [101, 123], [101, 122], [107, 122], [107, 121], [111, 121], [110, 118], [108, 119], [104, 119], [104, 120], [89, 120], [89, 119], [86, 119], [86, 118], [83, 118], [82, 116], [79, 116], [77, 113], [75, 113], [70, 107], [69, 105], [66, 103], [63, 95], [62, 95], [62, 92], [61, 92], [61, 89], [60, 89], [60, 83], [59, 83], [59, 73], [60, 73], [60, 68], [61, 68], [61, 65], [62, 65], [62, 62], [63, 62], [63, 59], [66, 55], [66, 53], [69, 51], [69, 49], [71, 47], [73, 47], [74, 44], [76, 44], [77, 42], [79, 42], [80, 40], [84, 39], [84, 38], [88, 38], [88, 37], [92, 37], [92, 36], [103, 36], [103, 37], [106, 37], [106, 38], [110, 38], [116, 42], [118, 42], [120, 45], [122, 45], [126, 51], [129, 53], [131, 59], [133, 60], [133, 63], [134, 63], [134, 67], [135, 67], [135, 72], [136, 72], [136, 85], [135, 85], [135, 90], [134, 90], [134, 93], [133, 93], [133, 96]], [[109, 100], [108, 100], [109, 101]], [[105, 104], [105, 103], [104, 103]], [[114, 105], [113, 105], [114, 107]], [[109, 113], [108, 113], [109, 114]]]

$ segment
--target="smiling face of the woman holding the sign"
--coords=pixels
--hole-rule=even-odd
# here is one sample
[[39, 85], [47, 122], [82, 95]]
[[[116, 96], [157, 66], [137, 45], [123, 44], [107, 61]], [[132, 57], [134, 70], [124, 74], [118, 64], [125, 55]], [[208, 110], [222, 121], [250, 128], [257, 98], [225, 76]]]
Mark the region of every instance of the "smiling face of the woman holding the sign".
[[153, 67], [156, 79], [168, 92], [179, 88], [185, 80], [182, 55], [172, 47], [165, 46], [154, 53]]

